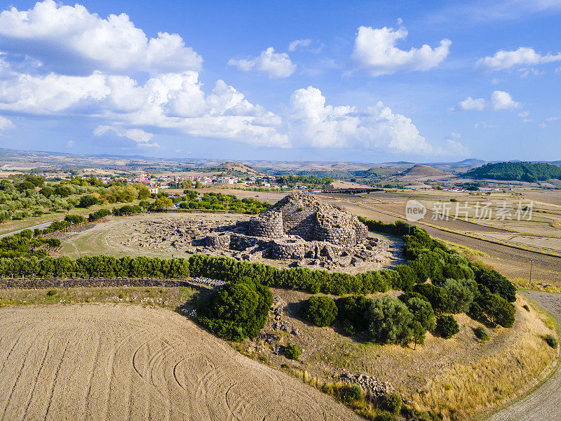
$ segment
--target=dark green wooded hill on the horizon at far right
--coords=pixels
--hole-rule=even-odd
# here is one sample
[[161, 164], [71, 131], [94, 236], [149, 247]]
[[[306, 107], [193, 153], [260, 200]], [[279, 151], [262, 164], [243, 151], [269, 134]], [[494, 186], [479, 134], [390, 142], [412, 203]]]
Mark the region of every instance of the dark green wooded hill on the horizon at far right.
[[561, 178], [561, 167], [550, 163], [499, 162], [473, 168], [464, 174], [469, 178], [536, 182]]

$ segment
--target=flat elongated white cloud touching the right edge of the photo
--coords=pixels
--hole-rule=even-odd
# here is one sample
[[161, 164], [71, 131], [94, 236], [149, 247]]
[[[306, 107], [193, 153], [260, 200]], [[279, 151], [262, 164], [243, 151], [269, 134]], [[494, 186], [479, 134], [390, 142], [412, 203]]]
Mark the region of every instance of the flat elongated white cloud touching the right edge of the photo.
[[561, 53], [541, 55], [534, 48], [520, 47], [513, 51], [497, 51], [492, 56], [480, 58], [476, 65], [491, 72], [510, 69], [511, 67], [535, 66], [561, 61]]

